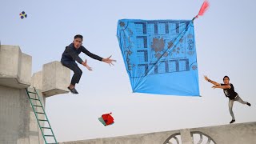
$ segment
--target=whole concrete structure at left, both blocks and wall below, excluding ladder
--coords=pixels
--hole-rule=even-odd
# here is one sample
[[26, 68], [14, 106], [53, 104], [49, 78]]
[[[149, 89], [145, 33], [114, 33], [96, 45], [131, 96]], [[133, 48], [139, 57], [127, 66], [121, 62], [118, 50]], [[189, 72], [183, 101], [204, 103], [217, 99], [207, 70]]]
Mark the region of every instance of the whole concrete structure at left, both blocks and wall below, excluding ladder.
[[[32, 84], [29, 90], [37, 89], [43, 105], [46, 97], [69, 92], [66, 87], [70, 84], [70, 70], [60, 62], [47, 63], [32, 78], [31, 69], [32, 57], [23, 54], [19, 46], [0, 46], [0, 144], [44, 143], [25, 88]], [[36, 110], [42, 112], [40, 107]], [[38, 117], [45, 119], [43, 114]], [[47, 140], [54, 142], [53, 138]]]

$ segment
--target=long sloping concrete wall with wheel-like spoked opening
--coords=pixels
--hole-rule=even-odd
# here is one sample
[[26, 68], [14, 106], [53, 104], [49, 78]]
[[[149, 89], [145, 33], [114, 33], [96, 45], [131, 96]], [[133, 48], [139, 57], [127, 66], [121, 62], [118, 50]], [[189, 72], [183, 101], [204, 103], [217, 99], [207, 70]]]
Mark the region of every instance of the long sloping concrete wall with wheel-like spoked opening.
[[[113, 138], [97, 138], [74, 142], [60, 142], [60, 144], [167, 144], [170, 136], [178, 134], [176, 137], [179, 143], [198, 143], [199, 138], [194, 138], [193, 132], [201, 132], [202, 143], [206, 143], [209, 136], [217, 144], [255, 144], [256, 143], [256, 122], [241, 124], [229, 124], [223, 126], [209, 126], [185, 130], [173, 130], [149, 134], [135, 134]], [[190, 132], [190, 134], [189, 134]], [[193, 136], [193, 137], [191, 137]], [[194, 141], [194, 142], [193, 142]], [[172, 141], [172, 143], [178, 143]]]

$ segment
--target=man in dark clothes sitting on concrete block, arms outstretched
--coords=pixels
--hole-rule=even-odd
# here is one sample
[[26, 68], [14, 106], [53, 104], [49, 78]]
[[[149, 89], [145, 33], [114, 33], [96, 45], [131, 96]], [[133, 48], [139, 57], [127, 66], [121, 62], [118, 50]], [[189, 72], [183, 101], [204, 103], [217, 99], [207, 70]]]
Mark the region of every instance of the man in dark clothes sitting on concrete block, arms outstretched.
[[66, 66], [70, 70], [74, 71], [74, 75], [71, 79], [70, 86], [67, 87], [73, 94], [78, 94], [78, 91], [75, 90], [75, 84], [80, 81], [80, 78], [82, 76], [82, 70], [78, 67], [78, 64], [75, 61], [82, 64], [82, 66], [86, 66], [88, 70], [92, 70], [90, 66], [87, 65], [86, 60], [82, 61], [82, 58], [78, 56], [78, 54], [80, 54], [81, 52], [88, 55], [90, 58], [106, 62], [110, 64], [110, 66], [114, 65], [112, 62], [116, 62], [115, 60], [110, 59], [111, 56], [109, 58], [102, 58], [96, 54], [90, 53], [90, 51], [86, 50], [86, 48], [82, 46], [82, 35], [75, 35], [74, 41], [70, 44], [70, 46], [66, 46], [66, 49], [62, 54], [61, 60], [63, 66]]

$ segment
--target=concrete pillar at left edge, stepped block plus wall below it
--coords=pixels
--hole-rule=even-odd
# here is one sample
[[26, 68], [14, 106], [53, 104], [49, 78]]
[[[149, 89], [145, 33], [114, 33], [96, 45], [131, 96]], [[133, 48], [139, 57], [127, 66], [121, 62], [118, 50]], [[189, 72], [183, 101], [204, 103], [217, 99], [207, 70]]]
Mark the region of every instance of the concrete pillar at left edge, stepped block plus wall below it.
[[31, 65], [32, 57], [19, 46], [0, 46], [0, 143], [43, 143], [25, 90]]

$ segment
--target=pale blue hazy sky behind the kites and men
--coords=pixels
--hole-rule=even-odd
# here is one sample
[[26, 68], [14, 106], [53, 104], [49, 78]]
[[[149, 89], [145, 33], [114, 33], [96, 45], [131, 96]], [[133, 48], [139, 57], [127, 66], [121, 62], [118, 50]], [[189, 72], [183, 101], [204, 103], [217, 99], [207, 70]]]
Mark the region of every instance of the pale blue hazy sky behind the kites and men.
[[[93, 71], [83, 70], [78, 95], [46, 98], [46, 112], [58, 142], [142, 134], [163, 130], [224, 125], [230, 122], [228, 99], [203, 79], [216, 82], [230, 76], [235, 90], [251, 107], [234, 103], [236, 122], [256, 121], [254, 0], [210, 1], [210, 9], [194, 22], [202, 97], [134, 94], [118, 46], [118, 19], [192, 19], [202, 0], [158, 1], [4, 1], [1, 0], [0, 40], [18, 45], [33, 57], [33, 73], [42, 65], [59, 61], [75, 34], [83, 46], [104, 58], [112, 55], [115, 66], [85, 54]], [[25, 11], [27, 18], [19, 18]], [[102, 126], [98, 117], [112, 112], [113, 126]]]

